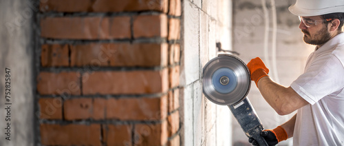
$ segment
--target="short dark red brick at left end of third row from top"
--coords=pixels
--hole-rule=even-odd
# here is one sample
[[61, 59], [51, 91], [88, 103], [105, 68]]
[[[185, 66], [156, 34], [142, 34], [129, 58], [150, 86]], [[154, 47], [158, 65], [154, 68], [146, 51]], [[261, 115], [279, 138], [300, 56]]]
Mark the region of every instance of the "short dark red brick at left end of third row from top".
[[68, 45], [43, 44], [41, 65], [43, 67], [69, 66]]

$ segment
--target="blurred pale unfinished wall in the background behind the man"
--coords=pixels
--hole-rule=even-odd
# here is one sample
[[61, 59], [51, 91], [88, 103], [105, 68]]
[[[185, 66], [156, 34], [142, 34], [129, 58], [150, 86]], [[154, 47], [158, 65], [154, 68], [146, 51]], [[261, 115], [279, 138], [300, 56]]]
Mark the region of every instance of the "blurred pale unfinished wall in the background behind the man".
[[[233, 50], [239, 52], [239, 57], [246, 63], [257, 56], [261, 57], [270, 69], [270, 77], [288, 87], [303, 72], [305, 61], [310, 52], [314, 50], [314, 46], [303, 42], [299, 19], [288, 11], [288, 7], [294, 1], [275, 0], [275, 7], [271, 2], [266, 0], [266, 11], [264, 11], [262, 1], [233, 1]], [[275, 54], [272, 50], [274, 8], [277, 11]], [[268, 21], [268, 28], [266, 28], [266, 21]], [[268, 32], [268, 43], [264, 43], [266, 31]], [[264, 54], [265, 45], [268, 47], [266, 54]], [[276, 67], [273, 65], [274, 58]], [[266, 129], [275, 128], [294, 115], [279, 116], [266, 103], [254, 82], [252, 82], [248, 98]], [[233, 145], [244, 143], [248, 143], [248, 138], [237, 122], [233, 121]], [[292, 144], [291, 140], [283, 142], [281, 145], [289, 145], [289, 143]]]

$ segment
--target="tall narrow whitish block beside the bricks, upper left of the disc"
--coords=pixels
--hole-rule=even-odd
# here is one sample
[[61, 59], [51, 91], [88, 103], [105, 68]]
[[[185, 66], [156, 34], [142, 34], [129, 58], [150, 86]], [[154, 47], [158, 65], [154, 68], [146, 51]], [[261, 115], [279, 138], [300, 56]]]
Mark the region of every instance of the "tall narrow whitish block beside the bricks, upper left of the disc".
[[184, 1], [184, 73], [185, 83], [189, 85], [200, 78], [199, 17], [200, 13], [193, 3]]

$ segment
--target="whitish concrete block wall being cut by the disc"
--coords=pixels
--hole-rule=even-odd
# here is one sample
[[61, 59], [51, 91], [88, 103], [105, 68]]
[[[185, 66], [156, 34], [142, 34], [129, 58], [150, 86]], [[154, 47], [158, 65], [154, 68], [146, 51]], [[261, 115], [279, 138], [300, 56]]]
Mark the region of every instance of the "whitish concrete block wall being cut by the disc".
[[182, 5], [182, 145], [230, 145], [231, 116], [202, 94], [202, 68], [217, 56], [216, 43], [230, 50], [232, 2], [184, 0]]

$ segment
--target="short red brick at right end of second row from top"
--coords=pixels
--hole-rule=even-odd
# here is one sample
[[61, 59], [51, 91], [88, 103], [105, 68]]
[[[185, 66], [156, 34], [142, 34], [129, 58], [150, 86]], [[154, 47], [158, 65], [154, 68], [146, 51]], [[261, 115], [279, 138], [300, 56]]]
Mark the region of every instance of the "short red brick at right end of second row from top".
[[160, 15], [139, 15], [133, 18], [133, 37], [166, 37], [167, 17]]

